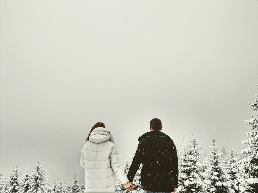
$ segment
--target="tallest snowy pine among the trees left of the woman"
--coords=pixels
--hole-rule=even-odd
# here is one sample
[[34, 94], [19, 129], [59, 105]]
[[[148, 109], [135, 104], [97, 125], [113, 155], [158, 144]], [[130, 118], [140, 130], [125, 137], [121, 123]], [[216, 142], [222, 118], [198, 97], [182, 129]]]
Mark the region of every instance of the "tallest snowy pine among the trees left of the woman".
[[39, 165], [39, 161], [35, 170], [32, 170], [30, 176], [30, 189], [27, 193], [47, 193], [47, 179], [46, 179], [46, 172], [42, 169], [42, 166]]

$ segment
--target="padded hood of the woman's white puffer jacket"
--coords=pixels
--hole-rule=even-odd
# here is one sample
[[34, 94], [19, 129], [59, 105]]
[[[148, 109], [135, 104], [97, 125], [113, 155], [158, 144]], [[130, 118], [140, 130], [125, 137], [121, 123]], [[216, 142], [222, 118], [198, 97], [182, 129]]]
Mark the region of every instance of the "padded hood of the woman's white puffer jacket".
[[111, 132], [104, 127], [95, 128], [90, 134], [89, 141], [93, 143], [111, 141], [112, 143], [114, 143], [114, 139]]

